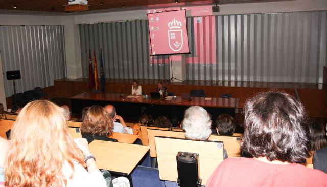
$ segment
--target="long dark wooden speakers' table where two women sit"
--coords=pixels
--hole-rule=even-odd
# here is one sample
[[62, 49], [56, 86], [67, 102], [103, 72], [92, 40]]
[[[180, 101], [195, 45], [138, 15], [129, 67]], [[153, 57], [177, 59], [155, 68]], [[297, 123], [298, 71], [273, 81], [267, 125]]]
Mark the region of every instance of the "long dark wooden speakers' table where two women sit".
[[128, 98], [128, 94], [120, 93], [81, 93], [71, 97], [72, 112], [80, 113], [83, 107], [92, 105], [112, 104], [116, 111], [123, 118], [138, 120], [143, 114], [151, 114], [154, 118], [165, 115], [167, 117], [177, 116], [183, 118], [184, 111], [189, 106], [202, 106], [213, 119], [221, 113], [234, 115], [238, 108], [238, 98], [211, 97], [210, 100], [204, 97], [191, 97], [192, 100], [182, 99], [176, 96], [171, 100], [160, 100], [153, 98]]

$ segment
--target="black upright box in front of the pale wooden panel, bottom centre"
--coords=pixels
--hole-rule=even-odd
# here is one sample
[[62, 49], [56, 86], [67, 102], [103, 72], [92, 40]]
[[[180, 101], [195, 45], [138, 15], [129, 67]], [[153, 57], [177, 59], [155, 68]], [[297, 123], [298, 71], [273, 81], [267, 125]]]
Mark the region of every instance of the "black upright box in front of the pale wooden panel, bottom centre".
[[200, 179], [199, 154], [178, 152], [177, 156], [177, 183], [180, 187], [199, 187]]

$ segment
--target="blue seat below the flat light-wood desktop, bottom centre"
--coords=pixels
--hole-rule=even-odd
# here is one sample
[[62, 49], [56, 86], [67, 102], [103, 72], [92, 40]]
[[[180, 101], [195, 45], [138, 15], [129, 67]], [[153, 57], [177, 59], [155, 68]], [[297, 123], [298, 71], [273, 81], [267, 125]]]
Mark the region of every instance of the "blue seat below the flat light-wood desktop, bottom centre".
[[138, 165], [131, 176], [133, 187], [165, 187], [164, 181], [159, 179], [159, 171], [157, 168]]

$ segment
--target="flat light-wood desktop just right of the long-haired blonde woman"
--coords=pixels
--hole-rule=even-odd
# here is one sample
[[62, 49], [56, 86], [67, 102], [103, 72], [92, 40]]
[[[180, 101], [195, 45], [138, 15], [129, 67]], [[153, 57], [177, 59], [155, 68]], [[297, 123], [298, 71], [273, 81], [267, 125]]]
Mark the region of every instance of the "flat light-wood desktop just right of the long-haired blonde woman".
[[94, 140], [89, 144], [98, 168], [128, 176], [149, 151], [149, 146]]

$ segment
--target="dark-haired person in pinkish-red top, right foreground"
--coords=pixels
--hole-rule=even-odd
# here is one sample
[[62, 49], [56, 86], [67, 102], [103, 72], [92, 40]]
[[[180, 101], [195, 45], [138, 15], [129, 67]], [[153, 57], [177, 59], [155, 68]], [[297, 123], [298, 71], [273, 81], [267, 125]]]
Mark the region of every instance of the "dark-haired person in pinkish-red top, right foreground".
[[304, 167], [310, 135], [302, 104], [284, 92], [263, 92], [245, 103], [241, 148], [254, 158], [228, 158], [206, 186], [327, 186], [327, 174]]

